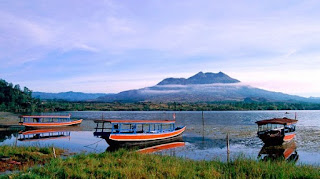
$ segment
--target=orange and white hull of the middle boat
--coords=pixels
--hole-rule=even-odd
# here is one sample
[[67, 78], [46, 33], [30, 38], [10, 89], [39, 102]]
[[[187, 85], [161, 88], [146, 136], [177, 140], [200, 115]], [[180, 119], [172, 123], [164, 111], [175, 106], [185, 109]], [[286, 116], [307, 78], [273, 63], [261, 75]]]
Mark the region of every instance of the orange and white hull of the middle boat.
[[186, 127], [172, 132], [158, 134], [108, 134], [100, 135], [110, 146], [114, 147], [132, 147], [149, 146], [161, 143], [167, 143], [182, 139], [182, 133]]

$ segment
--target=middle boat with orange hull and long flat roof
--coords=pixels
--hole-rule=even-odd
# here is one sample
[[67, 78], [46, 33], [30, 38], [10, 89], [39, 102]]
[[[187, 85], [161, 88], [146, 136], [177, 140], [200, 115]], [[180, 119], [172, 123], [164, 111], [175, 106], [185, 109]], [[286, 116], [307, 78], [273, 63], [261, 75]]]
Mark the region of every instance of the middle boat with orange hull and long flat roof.
[[173, 120], [95, 120], [96, 137], [110, 146], [130, 147], [171, 142], [181, 138], [186, 127], [175, 127]]

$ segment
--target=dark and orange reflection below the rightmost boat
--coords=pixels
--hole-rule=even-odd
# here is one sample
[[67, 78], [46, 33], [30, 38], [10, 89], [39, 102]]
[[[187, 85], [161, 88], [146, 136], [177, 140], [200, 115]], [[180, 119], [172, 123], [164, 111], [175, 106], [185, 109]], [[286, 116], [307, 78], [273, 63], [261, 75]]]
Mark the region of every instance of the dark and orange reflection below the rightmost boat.
[[264, 145], [258, 154], [260, 160], [285, 160], [296, 162], [299, 159], [296, 142], [294, 140], [283, 145]]

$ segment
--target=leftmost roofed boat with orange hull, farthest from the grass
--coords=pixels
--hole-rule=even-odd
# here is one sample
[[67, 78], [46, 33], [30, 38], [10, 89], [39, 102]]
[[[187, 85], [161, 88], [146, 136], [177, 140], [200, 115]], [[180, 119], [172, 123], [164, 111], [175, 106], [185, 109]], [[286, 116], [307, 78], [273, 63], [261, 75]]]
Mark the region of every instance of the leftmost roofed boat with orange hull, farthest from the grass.
[[26, 128], [52, 128], [80, 125], [82, 119], [71, 120], [68, 116], [20, 116], [20, 125]]

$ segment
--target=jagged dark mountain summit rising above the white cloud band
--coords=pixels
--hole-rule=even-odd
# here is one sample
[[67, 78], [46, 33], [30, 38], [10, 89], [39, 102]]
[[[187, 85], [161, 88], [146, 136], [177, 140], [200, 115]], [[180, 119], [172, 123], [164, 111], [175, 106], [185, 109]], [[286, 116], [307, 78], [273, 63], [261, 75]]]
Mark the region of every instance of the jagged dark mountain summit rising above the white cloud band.
[[203, 73], [199, 72], [196, 75], [185, 78], [166, 78], [157, 85], [189, 85], [189, 84], [212, 84], [212, 83], [239, 83], [239, 80], [230, 78], [228, 75], [219, 73]]

